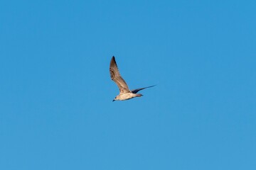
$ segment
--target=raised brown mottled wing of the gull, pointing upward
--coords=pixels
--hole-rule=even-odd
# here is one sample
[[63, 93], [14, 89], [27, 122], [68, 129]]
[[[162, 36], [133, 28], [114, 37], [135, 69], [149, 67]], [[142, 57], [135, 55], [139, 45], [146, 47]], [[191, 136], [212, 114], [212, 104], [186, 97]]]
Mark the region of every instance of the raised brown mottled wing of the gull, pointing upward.
[[117, 62], [115, 61], [114, 56], [110, 61], [110, 77], [117, 84], [121, 94], [129, 92], [127, 83], [124, 81], [124, 79], [122, 79], [118, 71]]

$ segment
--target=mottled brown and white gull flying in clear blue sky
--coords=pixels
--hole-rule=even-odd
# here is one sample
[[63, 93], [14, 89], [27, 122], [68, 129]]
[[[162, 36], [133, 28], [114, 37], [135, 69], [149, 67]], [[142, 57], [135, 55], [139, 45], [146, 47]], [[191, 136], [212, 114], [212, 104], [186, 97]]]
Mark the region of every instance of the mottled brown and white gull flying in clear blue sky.
[[114, 56], [110, 61], [110, 77], [117, 84], [119, 88], [119, 95], [117, 95], [113, 101], [125, 101], [134, 97], [141, 97], [143, 95], [137, 94], [138, 91], [152, 87], [152, 86], [147, 86], [147, 87], [134, 89], [130, 91], [127, 83], [124, 81], [124, 79], [121, 77], [121, 74], [119, 73], [119, 70], [117, 68], [117, 62], [115, 61]]

